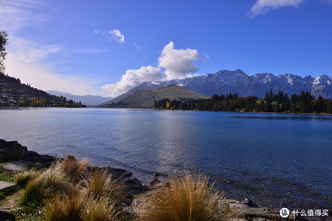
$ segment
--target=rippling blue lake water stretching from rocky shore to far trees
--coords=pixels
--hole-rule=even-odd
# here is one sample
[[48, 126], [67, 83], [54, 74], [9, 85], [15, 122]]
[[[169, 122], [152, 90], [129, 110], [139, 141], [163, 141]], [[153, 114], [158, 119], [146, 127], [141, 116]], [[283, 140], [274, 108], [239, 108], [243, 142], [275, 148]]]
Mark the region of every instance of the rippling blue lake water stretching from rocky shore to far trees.
[[[332, 207], [332, 116], [96, 108], [0, 109], [0, 139], [153, 173], [204, 171], [234, 199]], [[161, 177], [162, 179], [163, 177]]]

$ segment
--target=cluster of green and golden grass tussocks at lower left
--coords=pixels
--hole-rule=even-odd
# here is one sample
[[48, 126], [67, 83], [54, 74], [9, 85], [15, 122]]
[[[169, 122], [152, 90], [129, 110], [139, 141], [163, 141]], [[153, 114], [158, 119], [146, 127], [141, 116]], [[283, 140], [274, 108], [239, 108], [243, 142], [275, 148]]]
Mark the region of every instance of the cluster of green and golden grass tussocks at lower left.
[[124, 186], [107, 170], [90, 170], [91, 160], [67, 158], [48, 169], [31, 169], [16, 176], [24, 187], [19, 204], [45, 221], [123, 220]]

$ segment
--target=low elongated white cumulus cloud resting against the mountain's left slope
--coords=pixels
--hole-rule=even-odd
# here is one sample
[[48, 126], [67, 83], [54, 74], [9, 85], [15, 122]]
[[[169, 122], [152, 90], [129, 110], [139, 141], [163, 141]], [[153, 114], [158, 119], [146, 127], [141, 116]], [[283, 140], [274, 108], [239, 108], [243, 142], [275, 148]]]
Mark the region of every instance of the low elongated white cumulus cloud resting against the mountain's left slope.
[[102, 86], [104, 91], [112, 92], [112, 97], [127, 92], [137, 87], [144, 81], [162, 81], [166, 80], [166, 74], [160, 69], [152, 66], [141, 66], [139, 69], [129, 69], [122, 75], [121, 80], [116, 84], [107, 84]]

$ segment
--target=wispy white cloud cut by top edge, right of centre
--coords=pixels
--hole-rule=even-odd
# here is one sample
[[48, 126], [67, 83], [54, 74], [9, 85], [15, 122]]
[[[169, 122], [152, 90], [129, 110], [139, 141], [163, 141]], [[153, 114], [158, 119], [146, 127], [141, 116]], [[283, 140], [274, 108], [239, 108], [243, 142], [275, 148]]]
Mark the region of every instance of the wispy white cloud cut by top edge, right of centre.
[[284, 6], [297, 7], [305, 0], [258, 0], [248, 13], [250, 18]]

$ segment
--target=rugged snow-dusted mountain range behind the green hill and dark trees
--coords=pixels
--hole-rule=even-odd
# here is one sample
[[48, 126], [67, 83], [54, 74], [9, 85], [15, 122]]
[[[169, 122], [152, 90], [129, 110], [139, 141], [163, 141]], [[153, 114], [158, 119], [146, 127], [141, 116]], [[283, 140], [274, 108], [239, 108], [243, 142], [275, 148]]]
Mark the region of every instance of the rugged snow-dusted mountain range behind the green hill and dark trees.
[[280, 90], [284, 93], [287, 92], [289, 97], [292, 93], [300, 94], [303, 90], [311, 92], [315, 98], [319, 94], [324, 98], [332, 98], [332, 77], [325, 74], [316, 78], [310, 75], [302, 78], [293, 74], [274, 76], [271, 73], [247, 75], [241, 69], [237, 69], [235, 71], [220, 70], [215, 74], [204, 74], [170, 81], [145, 81], [106, 103], [118, 102], [139, 89], [154, 89], [168, 84], [176, 84], [207, 96], [213, 94], [226, 95], [231, 92], [237, 93], [239, 97], [257, 96], [258, 98], [264, 98], [266, 91], [272, 88], [273, 93], [277, 94]]

